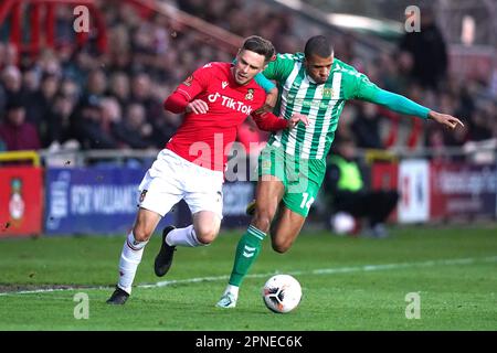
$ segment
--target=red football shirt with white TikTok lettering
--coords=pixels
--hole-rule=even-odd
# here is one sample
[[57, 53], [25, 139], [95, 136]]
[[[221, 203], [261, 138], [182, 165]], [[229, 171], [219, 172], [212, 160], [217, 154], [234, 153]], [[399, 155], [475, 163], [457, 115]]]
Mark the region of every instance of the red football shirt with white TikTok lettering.
[[166, 148], [188, 161], [216, 171], [225, 169], [236, 128], [264, 105], [266, 97], [254, 79], [239, 85], [231, 67], [230, 63], [209, 63], [197, 69], [170, 96], [182, 95], [184, 105], [202, 99], [209, 110], [207, 114], [187, 113]]

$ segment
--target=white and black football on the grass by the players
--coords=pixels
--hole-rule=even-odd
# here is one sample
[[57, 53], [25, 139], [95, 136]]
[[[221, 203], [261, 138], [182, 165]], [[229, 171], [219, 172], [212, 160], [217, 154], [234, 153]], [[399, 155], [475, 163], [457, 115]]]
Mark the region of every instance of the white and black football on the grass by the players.
[[264, 285], [262, 296], [264, 303], [271, 311], [277, 313], [290, 312], [300, 302], [300, 284], [289, 275], [275, 275]]

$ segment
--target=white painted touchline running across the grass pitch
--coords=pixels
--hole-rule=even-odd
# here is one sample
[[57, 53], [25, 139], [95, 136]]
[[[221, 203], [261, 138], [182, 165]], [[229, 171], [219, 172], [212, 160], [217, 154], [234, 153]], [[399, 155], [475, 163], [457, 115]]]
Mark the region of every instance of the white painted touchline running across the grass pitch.
[[[313, 270], [300, 270], [300, 271], [284, 271], [288, 275], [300, 276], [300, 275], [336, 275], [336, 274], [349, 274], [349, 272], [367, 272], [367, 271], [381, 271], [389, 269], [404, 269], [413, 267], [434, 267], [434, 266], [452, 266], [452, 265], [469, 265], [475, 263], [496, 263], [497, 256], [487, 257], [467, 257], [467, 258], [455, 258], [455, 259], [443, 259], [443, 260], [427, 260], [420, 263], [396, 263], [396, 264], [380, 264], [380, 265], [363, 265], [363, 266], [349, 266], [349, 267], [336, 267], [336, 268], [320, 268]], [[265, 274], [253, 274], [247, 275], [248, 278], [261, 278], [268, 277], [272, 275], [282, 274], [282, 271], [273, 271]], [[197, 282], [212, 282], [229, 279], [229, 276], [211, 276], [211, 277], [197, 277], [197, 278], [186, 278], [186, 279], [171, 279], [165, 280], [152, 285], [138, 285], [137, 288], [160, 288], [173, 285], [188, 285]], [[22, 290], [22, 291], [11, 291], [0, 293], [2, 296], [14, 296], [14, 295], [33, 295], [33, 293], [45, 293], [55, 291], [67, 291], [67, 290], [96, 290], [96, 289], [112, 289], [114, 287], [65, 287], [65, 288], [49, 288], [49, 289], [35, 289], [35, 290]]]

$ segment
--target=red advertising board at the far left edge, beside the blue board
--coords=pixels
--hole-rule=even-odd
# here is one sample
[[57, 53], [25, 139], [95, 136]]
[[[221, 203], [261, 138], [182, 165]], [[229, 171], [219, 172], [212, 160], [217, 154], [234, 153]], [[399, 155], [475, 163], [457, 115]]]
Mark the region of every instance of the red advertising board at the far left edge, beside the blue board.
[[41, 234], [42, 169], [0, 168], [0, 237]]

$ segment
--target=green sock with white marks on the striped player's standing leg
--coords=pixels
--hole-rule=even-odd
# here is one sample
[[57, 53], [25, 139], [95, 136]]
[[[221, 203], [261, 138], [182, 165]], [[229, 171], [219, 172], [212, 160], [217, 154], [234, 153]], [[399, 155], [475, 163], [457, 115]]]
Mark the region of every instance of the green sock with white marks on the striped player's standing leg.
[[230, 285], [236, 287], [242, 285], [243, 278], [261, 252], [262, 240], [264, 240], [265, 236], [266, 234], [264, 232], [253, 225], [248, 226], [248, 229], [246, 229], [246, 233], [236, 246], [235, 261], [229, 281]]

